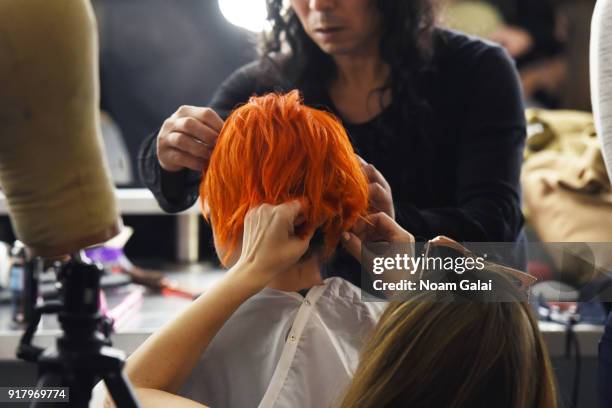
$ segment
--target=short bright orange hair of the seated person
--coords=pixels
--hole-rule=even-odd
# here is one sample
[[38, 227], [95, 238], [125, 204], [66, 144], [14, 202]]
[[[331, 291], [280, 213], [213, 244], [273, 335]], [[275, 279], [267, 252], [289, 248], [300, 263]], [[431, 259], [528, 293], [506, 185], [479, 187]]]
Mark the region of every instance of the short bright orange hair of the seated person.
[[[298, 199], [304, 216], [298, 235], [320, 226], [329, 256], [340, 234], [365, 214], [368, 183], [340, 121], [305, 106], [292, 91], [251, 97], [232, 112], [200, 198], [202, 208], [208, 202], [218, 243], [229, 251], [242, 236], [250, 208]], [[206, 213], [204, 218], [210, 221]]]

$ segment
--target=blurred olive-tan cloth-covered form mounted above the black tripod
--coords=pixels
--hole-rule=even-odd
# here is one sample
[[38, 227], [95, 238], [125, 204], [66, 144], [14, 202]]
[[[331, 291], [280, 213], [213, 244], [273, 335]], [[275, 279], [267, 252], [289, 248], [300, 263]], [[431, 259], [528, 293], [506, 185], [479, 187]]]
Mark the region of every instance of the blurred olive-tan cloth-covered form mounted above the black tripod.
[[120, 221], [103, 161], [88, 0], [0, 0], [0, 184], [41, 256], [104, 242]]

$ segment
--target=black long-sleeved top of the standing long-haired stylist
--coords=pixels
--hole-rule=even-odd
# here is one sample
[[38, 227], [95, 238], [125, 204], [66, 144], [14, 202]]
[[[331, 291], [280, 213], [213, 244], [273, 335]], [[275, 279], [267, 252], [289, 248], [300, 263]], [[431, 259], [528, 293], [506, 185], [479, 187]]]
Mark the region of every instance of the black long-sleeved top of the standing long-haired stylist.
[[[441, 29], [433, 55], [418, 84], [431, 119], [398, 116], [392, 102], [372, 121], [345, 123], [353, 146], [387, 179], [397, 221], [417, 238], [516, 241], [525, 117], [514, 63], [498, 46]], [[219, 87], [209, 106], [225, 118], [251, 95], [293, 89], [283, 77], [282, 68], [251, 63]], [[307, 105], [338, 114], [324, 90], [301, 91]], [[183, 210], [198, 197], [200, 175], [162, 171], [155, 145], [154, 135], [143, 144], [143, 181], [164, 210]]]

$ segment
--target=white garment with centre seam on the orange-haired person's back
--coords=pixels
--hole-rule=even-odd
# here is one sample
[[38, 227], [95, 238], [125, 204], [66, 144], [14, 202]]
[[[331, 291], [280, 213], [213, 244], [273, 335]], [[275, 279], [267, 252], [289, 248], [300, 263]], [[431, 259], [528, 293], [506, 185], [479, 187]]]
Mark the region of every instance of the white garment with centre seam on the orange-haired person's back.
[[221, 328], [181, 395], [212, 408], [337, 406], [385, 307], [337, 277], [306, 297], [266, 288]]

